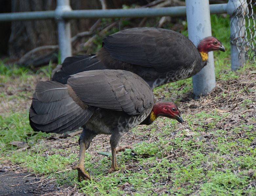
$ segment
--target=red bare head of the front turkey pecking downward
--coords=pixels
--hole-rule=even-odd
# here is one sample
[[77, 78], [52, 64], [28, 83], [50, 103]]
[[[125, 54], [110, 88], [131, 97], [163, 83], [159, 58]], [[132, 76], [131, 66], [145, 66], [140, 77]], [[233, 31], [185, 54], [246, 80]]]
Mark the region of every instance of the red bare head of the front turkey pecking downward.
[[152, 112], [156, 117], [158, 116], [165, 116], [168, 118], [173, 118], [179, 121], [180, 123], [183, 122], [182, 116], [180, 114], [179, 108], [173, 102], [157, 102], [152, 108]]

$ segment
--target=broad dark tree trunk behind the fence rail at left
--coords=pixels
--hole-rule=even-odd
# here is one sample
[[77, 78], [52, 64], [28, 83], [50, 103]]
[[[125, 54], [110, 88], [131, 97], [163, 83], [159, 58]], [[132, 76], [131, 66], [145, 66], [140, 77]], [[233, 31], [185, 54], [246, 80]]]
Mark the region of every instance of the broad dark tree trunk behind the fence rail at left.
[[[101, 9], [98, 0], [70, 1], [72, 9]], [[56, 0], [11, 0], [11, 12], [54, 10]], [[88, 30], [97, 19], [71, 20], [71, 36]], [[54, 19], [13, 21], [8, 43], [9, 56], [18, 59], [28, 51], [42, 45], [57, 45], [57, 24]], [[41, 51], [45, 53], [46, 51]], [[36, 56], [40, 55], [37, 53]]]

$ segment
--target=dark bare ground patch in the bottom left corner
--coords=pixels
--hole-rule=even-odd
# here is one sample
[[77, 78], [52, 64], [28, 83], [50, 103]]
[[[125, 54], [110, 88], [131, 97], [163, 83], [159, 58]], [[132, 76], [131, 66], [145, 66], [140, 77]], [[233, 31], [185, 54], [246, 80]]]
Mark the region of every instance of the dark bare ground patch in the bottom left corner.
[[56, 187], [54, 181], [10, 163], [0, 166], [0, 196], [83, 195], [76, 187]]

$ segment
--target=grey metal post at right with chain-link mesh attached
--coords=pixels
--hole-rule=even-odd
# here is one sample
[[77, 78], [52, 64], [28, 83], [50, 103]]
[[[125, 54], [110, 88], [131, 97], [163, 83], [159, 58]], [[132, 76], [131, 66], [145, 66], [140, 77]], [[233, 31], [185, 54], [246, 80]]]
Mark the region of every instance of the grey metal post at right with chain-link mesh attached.
[[246, 0], [229, 0], [227, 13], [230, 16], [230, 52], [231, 69], [236, 70], [243, 67], [246, 58], [242, 44], [245, 37], [245, 20], [247, 2]]

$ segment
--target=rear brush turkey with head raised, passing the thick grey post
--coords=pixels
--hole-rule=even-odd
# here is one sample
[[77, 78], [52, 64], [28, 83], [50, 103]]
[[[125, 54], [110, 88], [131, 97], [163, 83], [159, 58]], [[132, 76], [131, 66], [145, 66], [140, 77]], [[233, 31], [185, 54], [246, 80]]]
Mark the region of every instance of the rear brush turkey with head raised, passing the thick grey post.
[[70, 75], [96, 69], [122, 69], [157, 86], [189, 78], [207, 64], [209, 51], [225, 51], [214, 37], [196, 47], [184, 35], [163, 28], [138, 27], [119, 31], [103, 39], [96, 55], [68, 57], [52, 72], [52, 80], [67, 83]]

